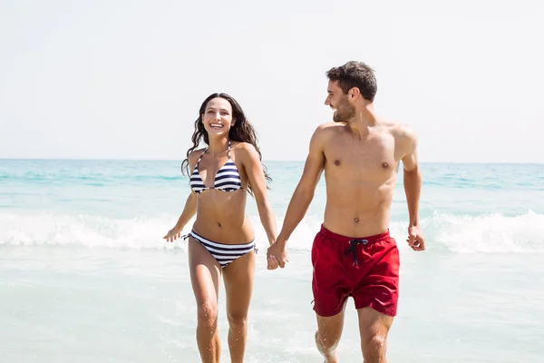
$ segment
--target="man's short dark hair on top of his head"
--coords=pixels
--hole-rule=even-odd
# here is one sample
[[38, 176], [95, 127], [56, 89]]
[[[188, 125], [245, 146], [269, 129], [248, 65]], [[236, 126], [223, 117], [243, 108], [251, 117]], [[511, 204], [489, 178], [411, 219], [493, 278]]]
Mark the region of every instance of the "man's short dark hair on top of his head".
[[326, 76], [331, 81], [338, 81], [344, 93], [357, 87], [364, 99], [374, 102], [377, 91], [374, 70], [363, 62], [350, 61], [339, 67], [331, 68]]

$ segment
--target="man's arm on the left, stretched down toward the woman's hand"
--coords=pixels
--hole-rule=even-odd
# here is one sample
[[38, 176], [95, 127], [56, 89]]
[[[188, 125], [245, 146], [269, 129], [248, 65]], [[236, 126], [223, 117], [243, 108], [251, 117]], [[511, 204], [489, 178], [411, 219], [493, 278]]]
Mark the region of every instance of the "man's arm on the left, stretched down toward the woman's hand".
[[325, 132], [326, 126], [323, 124], [318, 126], [312, 135], [304, 172], [289, 202], [285, 221], [275, 243], [282, 250], [285, 249], [291, 233], [295, 231], [298, 223], [302, 221], [310, 203], [314, 199], [317, 182], [319, 182], [319, 178], [325, 167]]

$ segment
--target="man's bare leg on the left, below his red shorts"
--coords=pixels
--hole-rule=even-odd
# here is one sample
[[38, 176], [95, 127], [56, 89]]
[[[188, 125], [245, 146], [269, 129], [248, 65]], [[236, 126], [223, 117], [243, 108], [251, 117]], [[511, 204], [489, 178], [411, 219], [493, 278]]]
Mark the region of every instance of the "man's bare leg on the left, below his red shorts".
[[344, 329], [344, 308], [332, 317], [317, 317], [316, 346], [325, 358], [325, 363], [337, 363], [336, 347]]

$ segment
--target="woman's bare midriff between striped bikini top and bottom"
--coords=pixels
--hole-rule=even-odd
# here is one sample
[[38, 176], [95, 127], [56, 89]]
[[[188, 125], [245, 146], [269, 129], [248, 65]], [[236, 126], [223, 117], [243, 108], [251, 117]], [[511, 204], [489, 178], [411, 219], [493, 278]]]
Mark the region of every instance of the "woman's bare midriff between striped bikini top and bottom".
[[198, 195], [193, 231], [218, 243], [242, 244], [255, 233], [246, 216], [247, 191], [206, 190]]

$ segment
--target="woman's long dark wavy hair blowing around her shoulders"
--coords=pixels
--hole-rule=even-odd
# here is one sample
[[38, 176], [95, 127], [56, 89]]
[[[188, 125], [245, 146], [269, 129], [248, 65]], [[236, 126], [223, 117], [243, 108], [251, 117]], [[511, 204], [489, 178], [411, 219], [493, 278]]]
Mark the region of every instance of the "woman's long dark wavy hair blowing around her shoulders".
[[[232, 125], [230, 127], [230, 130], [228, 131], [228, 138], [235, 142], [248, 142], [252, 144], [253, 147], [255, 147], [255, 150], [257, 150], [258, 159], [262, 161], [262, 155], [257, 146], [257, 133], [255, 132], [253, 125], [249, 123], [248, 119], [246, 118], [242, 107], [232, 96], [228, 95], [227, 93], [212, 93], [206, 98], [206, 100], [204, 100], [204, 102], [200, 106], [199, 118], [197, 119], [197, 121], [195, 121], [195, 132], [193, 132], [193, 135], [191, 137], [193, 145], [187, 151], [185, 160], [181, 162], [181, 172], [189, 177], [191, 173], [189, 171], [189, 154], [199, 147], [200, 141], [202, 139], [204, 139], [204, 142], [209, 145], [209, 135], [204, 128], [204, 123], [202, 123], [202, 114], [206, 111], [206, 106], [208, 105], [209, 101], [218, 97], [223, 98], [227, 100], [228, 103], [230, 103], [230, 106], [232, 107], [232, 118], [236, 120], [234, 125]], [[268, 175], [267, 168], [264, 165], [263, 172], [265, 173], [265, 179], [268, 182], [271, 182], [272, 178], [270, 178], [270, 176]], [[251, 185], [249, 185], [248, 191], [249, 194], [253, 195]]]

